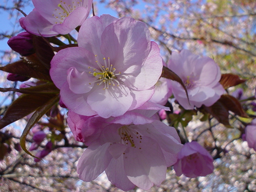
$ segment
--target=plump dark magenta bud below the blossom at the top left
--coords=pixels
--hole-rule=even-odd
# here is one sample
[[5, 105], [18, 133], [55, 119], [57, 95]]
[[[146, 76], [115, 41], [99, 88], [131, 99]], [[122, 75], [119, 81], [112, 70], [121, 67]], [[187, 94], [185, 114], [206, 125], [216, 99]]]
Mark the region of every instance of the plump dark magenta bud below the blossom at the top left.
[[22, 32], [10, 38], [7, 44], [12, 48], [12, 50], [21, 55], [31, 55], [34, 53], [32, 37], [32, 34], [29, 32]]

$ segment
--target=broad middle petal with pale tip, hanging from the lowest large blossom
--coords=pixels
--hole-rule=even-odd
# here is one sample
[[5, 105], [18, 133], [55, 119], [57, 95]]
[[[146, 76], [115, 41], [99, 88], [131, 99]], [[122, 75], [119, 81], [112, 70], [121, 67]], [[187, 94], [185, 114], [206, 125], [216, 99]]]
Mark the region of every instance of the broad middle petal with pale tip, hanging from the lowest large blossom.
[[124, 170], [128, 179], [144, 190], [154, 184], [160, 186], [166, 177], [166, 162], [160, 146], [146, 136], [135, 145], [136, 148], [131, 147], [129, 153], [124, 154]]

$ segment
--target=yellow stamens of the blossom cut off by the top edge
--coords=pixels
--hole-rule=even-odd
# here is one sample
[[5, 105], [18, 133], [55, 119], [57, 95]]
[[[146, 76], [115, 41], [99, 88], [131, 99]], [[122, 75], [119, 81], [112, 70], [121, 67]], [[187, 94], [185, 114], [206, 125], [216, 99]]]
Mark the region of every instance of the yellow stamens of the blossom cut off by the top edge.
[[58, 8], [55, 9], [55, 14], [52, 14], [59, 22], [55, 22], [62, 24], [63, 20], [69, 16], [69, 14], [74, 11], [77, 7], [82, 6], [82, 0], [77, 0], [77, 2], [72, 2], [72, 4], [66, 4], [64, 1], [60, 1], [58, 4]]

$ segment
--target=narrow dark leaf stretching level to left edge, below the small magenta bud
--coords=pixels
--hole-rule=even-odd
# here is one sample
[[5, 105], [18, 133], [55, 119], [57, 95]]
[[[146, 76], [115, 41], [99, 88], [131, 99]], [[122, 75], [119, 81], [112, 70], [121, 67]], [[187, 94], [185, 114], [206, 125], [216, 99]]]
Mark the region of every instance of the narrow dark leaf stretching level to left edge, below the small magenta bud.
[[60, 90], [52, 83], [48, 82], [46, 84], [38, 85], [38, 86], [31, 86], [28, 88], [0, 88], [0, 92], [8, 92], [14, 91], [24, 94], [58, 94]]

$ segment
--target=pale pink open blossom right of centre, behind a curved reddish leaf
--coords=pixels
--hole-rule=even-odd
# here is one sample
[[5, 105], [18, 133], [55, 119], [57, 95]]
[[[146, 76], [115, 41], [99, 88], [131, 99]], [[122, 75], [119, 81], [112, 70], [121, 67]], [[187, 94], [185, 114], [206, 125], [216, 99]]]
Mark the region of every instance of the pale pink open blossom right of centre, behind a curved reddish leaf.
[[209, 57], [199, 58], [189, 50], [172, 52], [167, 66], [182, 79], [188, 90], [189, 102], [182, 86], [172, 81], [174, 97], [185, 109], [201, 107], [202, 104], [211, 106], [224, 93], [219, 83], [220, 68]]

